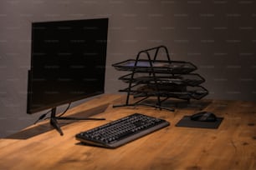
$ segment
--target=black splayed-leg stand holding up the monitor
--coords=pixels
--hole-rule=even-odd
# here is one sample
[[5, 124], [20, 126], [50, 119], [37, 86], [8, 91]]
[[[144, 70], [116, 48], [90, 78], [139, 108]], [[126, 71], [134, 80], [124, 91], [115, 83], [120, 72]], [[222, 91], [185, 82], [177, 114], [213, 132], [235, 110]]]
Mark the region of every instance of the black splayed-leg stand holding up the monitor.
[[105, 118], [91, 118], [91, 117], [58, 117], [56, 116], [56, 110], [57, 108], [54, 107], [51, 110], [51, 117], [50, 117], [50, 124], [59, 132], [59, 134], [61, 136], [64, 135], [64, 133], [62, 132], [59, 123], [58, 123], [58, 119], [59, 120], [105, 120]]

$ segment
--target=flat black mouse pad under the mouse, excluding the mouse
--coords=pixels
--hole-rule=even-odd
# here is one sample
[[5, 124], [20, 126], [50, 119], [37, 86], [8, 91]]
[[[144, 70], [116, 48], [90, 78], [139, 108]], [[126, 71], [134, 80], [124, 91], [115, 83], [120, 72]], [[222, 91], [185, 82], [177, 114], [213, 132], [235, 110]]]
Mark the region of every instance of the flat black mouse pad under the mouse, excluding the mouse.
[[221, 122], [223, 121], [223, 117], [217, 117], [217, 121], [215, 122], [200, 122], [193, 121], [190, 118], [191, 116], [184, 116], [182, 119], [177, 122], [177, 127], [187, 127], [187, 128], [218, 128]]

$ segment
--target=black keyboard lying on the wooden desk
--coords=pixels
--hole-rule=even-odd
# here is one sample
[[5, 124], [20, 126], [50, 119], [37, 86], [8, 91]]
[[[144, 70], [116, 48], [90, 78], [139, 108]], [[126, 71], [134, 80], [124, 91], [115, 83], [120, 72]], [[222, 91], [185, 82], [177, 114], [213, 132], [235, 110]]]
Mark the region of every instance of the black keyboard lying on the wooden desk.
[[75, 138], [89, 145], [117, 148], [169, 125], [170, 123], [166, 120], [134, 113], [100, 127], [78, 133]]

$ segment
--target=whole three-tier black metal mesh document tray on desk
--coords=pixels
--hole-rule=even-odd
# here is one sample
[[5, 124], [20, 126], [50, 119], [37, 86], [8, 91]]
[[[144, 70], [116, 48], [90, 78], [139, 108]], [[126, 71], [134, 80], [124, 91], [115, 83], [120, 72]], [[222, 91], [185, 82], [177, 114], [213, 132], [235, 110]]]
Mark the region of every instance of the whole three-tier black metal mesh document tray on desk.
[[[205, 79], [197, 73], [192, 73], [197, 67], [192, 62], [171, 60], [165, 46], [142, 50], [138, 52], [136, 59], [117, 62], [112, 66], [118, 71], [128, 72], [119, 77], [128, 86], [119, 90], [126, 92], [126, 101], [113, 107], [145, 105], [174, 111], [172, 108], [162, 107], [161, 103], [170, 97], [189, 102], [190, 99], [201, 99], [208, 94], [207, 89], [200, 86]], [[131, 96], [138, 97], [138, 100], [132, 101]], [[149, 97], [155, 97], [156, 103], [142, 103]]]

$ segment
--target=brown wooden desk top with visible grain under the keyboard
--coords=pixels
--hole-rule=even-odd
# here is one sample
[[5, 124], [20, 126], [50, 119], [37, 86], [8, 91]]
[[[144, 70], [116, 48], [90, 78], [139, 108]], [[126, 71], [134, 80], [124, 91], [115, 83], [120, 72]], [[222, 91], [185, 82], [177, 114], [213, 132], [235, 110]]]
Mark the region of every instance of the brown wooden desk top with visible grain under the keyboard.
[[[196, 101], [208, 103], [204, 110], [224, 117], [218, 129], [202, 129], [175, 126], [184, 115], [198, 112], [198, 107], [175, 112], [152, 107], [112, 108], [120, 98], [124, 96], [103, 95], [72, 108], [67, 114], [105, 109], [94, 117], [106, 120], [65, 124], [64, 136], [50, 128], [49, 122], [41, 122], [0, 139], [0, 169], [256, 169], [255, 102]], [[134, 112], [165, 118], [171, 126], [116, 149], [83, 146], [74, 138], [76, 133]]]

